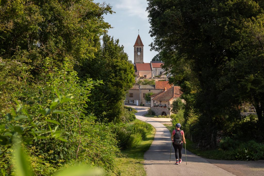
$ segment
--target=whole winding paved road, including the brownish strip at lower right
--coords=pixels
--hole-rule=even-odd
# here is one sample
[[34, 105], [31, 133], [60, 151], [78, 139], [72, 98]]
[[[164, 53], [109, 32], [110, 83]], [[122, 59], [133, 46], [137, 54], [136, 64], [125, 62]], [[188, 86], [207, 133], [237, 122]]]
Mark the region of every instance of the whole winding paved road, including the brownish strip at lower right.
[[[143, 117], [148, 107], [131, 106], [135, 108], [136, 118], [147, 121], [155, 127], [156, 134], [149, 150], [144, 154], [144, 165], [147, 175], [264, 175], [264, 161], [225, 161], [209, 160], [201, 158], [187, 151], [187, 165], [185, 159], [185, 150], [182, 149], [182, 163], [175, 165], [175, 153], [172, 148], [171, 162], [169, 162], [171, 140], [169, 130], [162, 125], [167, 119], [153, 120], [153, 118]], [[175, 173], [177, 172], [177, 173]], [[177, 174], [177, 175], [178, 175]]]

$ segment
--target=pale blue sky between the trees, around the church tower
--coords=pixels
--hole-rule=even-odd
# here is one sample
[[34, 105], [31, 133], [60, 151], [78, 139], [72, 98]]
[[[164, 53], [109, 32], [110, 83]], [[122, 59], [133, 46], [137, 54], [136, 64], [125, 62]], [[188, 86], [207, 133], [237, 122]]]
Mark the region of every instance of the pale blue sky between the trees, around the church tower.
[[148, 12], [146, 12], [147, 0], [94, 0], [94, 2], [106, 2], [112, 6], [116, 13], [104, 15], [105, 21], [113, 28], [108, 34], [114, 39], [119, 39], [119, 44], [124, 46], [124, 51], [128, 54], [129, 60], [134, 63], [134, 44], [138, 37], [138, 30], [144, 45], [143, 60], [149, 63], [158, 54], [150, 51], [150, 44], [153, 42], [150, 37], [150, 24], [148, 22]]

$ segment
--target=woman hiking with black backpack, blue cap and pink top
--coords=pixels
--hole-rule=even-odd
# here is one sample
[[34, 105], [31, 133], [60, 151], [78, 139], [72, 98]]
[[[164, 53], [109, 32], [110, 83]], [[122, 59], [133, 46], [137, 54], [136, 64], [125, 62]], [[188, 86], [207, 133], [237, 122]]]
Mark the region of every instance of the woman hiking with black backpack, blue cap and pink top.
[[[184, 137], [184, 132], [180, 130], [181, 124], [177, 123], [175, 125], [175, 129], [173, 130], [171, 134], [171, 140], [172, 140], [172, 145], [175, 150], [175, 158], [176, 158], [176, 163], [175, 164], [180, 164], [181, 163], [181, 157], [182, 157], [182, 147], [183, 147], [183, 142], [186, 144], [185, 137]], [[183, 142], [182, 142], [183, 141]]]

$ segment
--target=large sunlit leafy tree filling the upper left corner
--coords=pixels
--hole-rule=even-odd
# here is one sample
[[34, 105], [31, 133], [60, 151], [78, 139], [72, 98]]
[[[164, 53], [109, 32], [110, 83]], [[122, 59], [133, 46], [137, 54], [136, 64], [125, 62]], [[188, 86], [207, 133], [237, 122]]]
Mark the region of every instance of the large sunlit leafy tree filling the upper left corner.
[[46, 58], [51, 67], [66, 57], [75, 65], [95, 58], [100, 35], [110, 28], [104, 13], [112, 13], [111, 7], [92, 0], [1, 1], [0, 81], [7, 83], [0, 87], [0, 110], [22, 98], [21, 86], [45, 72]]

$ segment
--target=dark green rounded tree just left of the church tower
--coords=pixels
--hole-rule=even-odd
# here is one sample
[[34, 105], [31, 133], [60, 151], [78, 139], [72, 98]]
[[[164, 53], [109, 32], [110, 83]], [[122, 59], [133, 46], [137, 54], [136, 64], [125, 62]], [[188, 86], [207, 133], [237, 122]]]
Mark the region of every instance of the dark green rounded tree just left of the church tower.
[[103, 81], [100, 87], [92, 91], [89, 112], [101, 121], [118, 122], [122, 119], [126, 91], [135, 83], [134, 67], [124, 52], [124, 46], [119, 45], [119, 40], [105, 34], [102, 42], [96, 59], [87, 60], [80, 74], [85, 79]]

